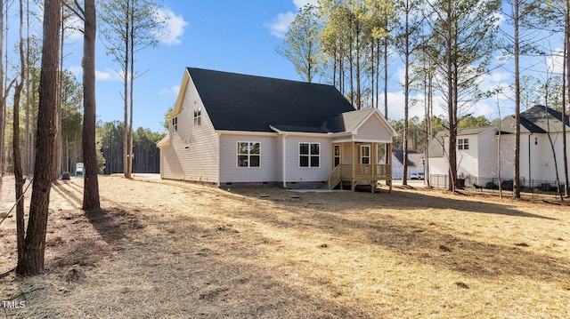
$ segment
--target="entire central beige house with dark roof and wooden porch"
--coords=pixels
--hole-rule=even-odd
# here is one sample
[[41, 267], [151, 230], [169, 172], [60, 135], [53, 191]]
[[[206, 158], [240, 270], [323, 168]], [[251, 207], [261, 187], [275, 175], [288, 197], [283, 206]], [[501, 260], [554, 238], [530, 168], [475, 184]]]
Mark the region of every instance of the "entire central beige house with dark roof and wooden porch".
[[167, 118], [163, 179], [352, 189], [392, 179], [377, 157], [391, 150], [394, 129], [331, 85], [186, 68]]

